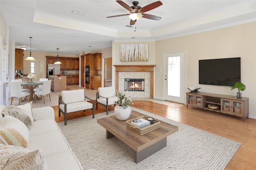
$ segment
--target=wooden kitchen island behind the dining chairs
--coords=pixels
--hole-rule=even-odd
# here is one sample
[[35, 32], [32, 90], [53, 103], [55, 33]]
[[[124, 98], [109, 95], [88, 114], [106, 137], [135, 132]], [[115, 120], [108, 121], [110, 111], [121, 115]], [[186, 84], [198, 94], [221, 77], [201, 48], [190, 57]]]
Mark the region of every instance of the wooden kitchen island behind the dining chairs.
[[67, 77], [66, 76], [49, 76], [52, 80], [51, 90], [54, 92], [61, 92], [67, 90]]

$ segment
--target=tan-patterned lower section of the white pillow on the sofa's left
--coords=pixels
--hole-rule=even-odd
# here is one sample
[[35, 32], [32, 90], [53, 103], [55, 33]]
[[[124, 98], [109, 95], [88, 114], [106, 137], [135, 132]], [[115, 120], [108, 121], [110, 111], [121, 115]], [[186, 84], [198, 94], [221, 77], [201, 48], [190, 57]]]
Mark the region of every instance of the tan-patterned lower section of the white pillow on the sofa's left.
[[24, 148], [28, 146], [28, 142], [26, 141], [26, 139], [12, 127], [1, 128], [0, 135], [2, 142], [7, 143], [8, 145], [14, 145]]

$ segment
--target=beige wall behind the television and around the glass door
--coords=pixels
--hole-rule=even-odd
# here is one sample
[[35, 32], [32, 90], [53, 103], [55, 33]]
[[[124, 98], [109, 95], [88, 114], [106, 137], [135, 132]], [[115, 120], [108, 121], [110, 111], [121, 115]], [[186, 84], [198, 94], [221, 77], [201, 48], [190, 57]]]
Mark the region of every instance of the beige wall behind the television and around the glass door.
[[164, 53], [187, 51], [186, 87], [200, 87], [200, 92], [236, 96], [228, 86], [198, 84], [198, 60], [241, 57], [241, 82], [246, 85], [243, 97], [249, 98], [249, 117], [256, 119], [256, 22], [236, 25], [182, 37], [156, 41], [155, 98], [163, 98]]

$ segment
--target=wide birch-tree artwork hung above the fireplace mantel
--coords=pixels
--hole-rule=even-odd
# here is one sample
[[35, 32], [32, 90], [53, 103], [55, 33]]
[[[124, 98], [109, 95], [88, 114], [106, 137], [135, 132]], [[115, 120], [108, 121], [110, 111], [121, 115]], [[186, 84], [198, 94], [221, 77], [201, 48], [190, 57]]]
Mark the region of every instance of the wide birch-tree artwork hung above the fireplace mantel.
[[120, 61], [148, 61], [148, 44], [120, 44]]

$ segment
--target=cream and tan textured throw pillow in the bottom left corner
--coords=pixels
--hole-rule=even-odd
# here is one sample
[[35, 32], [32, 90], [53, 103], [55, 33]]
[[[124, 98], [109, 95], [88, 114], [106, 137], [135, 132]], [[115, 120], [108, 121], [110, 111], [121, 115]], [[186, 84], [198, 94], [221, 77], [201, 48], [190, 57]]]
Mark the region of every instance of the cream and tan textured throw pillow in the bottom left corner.
[[41, 150], [30, 151], [22, 147], [1, 145], [0, 169], [46, 170], [44, 153]]

